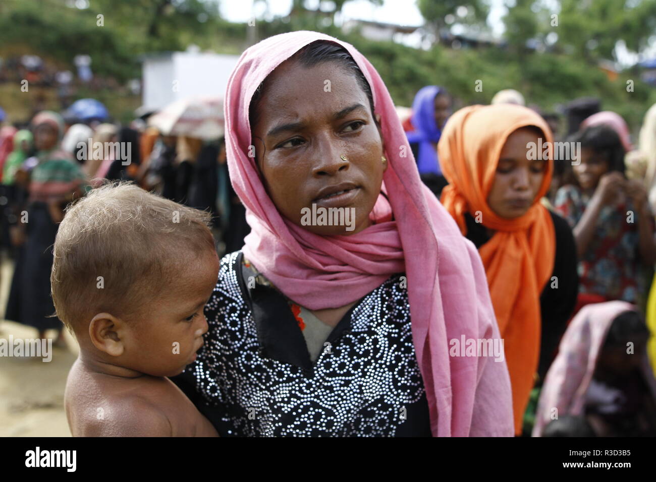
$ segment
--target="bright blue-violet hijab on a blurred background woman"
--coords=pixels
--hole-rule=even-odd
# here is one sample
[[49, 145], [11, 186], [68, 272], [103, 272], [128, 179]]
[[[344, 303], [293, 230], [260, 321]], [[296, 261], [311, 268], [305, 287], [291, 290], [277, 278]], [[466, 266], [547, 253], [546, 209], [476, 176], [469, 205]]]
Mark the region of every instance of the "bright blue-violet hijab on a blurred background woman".
[[412, 103], [412, 125], [415, 131], [407, 132], [408, 142], [419, 143], [417, 169], [419, 174], [440, 174], [440, 161], [433, 142], [438, 142], [442, 131], [435, 122], [435, 97], [444, 92], [437, 85], [422, 87]]

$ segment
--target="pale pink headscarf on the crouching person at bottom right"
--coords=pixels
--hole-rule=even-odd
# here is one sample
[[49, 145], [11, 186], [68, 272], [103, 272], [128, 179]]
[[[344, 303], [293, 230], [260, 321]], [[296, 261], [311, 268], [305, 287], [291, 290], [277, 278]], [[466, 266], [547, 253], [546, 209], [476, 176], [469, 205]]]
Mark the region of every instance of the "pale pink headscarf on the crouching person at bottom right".
[[[595, 303], [581, 308], [569, 323], [560, 342], [558, 356], [544, 378], [535, 412], [533, 437], [541, 437], [544, 427], [552, 420], [554, 408], [558, 409], [558, 416], [580, 415], [583, 412], [586, 392], [611, 323], [620, 313], [636, 310], [636, 306], [625, 301]], [[643, 372], [647, 374], [647, 386], [651, 386], [652, 393], [656, 395], [646, 356], [642, 365]]]

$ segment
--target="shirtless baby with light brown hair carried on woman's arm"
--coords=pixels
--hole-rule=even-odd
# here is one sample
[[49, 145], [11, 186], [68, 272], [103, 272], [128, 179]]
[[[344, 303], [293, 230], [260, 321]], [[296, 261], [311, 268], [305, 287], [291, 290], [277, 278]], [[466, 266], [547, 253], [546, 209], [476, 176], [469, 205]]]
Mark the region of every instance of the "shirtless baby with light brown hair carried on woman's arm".
[[218, 436], [167, 376], [195, 360], [218, 278], [210, 215], [127, 183], [66, 211], [52, 299], [79, 357], [64, 407], [74, 437]]

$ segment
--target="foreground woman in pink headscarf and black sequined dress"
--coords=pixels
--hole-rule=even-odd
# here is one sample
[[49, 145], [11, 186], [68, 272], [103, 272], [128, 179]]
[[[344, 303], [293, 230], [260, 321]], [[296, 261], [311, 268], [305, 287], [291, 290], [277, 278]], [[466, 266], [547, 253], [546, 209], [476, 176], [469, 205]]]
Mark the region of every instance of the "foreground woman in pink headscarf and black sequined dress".
[[266, 39], [232, 72], [225, 117], [252, 231], [174, 378], [218, 433], [512, 436], [480, 257], [367, 59], [316, 32]]

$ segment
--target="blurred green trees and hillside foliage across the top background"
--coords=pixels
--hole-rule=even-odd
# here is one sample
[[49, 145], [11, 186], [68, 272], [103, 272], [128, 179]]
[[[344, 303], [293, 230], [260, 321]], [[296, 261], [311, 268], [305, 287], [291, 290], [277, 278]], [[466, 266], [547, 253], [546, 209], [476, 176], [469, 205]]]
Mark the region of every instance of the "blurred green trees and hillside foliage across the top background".
[[[95, 73], [126, 81], [140, 76], [142, 54], [184, 50], [192, 43], [239, 54], [249, 40], [319, 30], [365, 54], [400, 105], [411, 105], [415, 92], [428, 84], [446, 87], [459, 105], [487, 103], [497, 90], [508, 88], [520, 90], [529, 103], [544, 110], [577, 96], [598, 96], [604, 109], [621, 113], [635, 129], [656, 102], [656, 91], [640, 82], [638, 71], [626, 71], [611, 81], [597, 68], [599, 58], [611, 58], [619, 39], [634, 50], [647, 45], [655, 28], [653, 0], [559, 0], [558, 10], [547, 8], [553, 2], [513, 0], [504, 17], [508, 47], [476, 50], [455, 50], [439, 43], [420, 50], [369, 41], [358, 33], [346, 35], [334, 22], [318, 21], [333, 18], [344, 3], [335, 2], [330, 10], [324, 2], [322, 17], [298, 0], [289, 16], [272, 22], [257, 20], [253, 27], [220, 18], [215, 1], [90, 0], [89, 8], [80, 10], [70, 7], [69, 0], [6, 0], [0, 2], [0, 56], [14, 45], [73, 68], [73, 57], [84, 53], [91, 55]], [[483, 28], [488, 12], [485, 0], [418, 1], [426, 21], [443, 28], [447, 28], [445, 16], [457, 16], [461, 4], [468, 7], [468, 14], [457, 22]], [[104, 18], [102, 27], [97, 25], [99, 14]], [[552, 14], [558, 15], [557, 26], [552, 26]], [[256, 35], [249, 37], [254, 30]], [[551, 32], [558, 39], [546, 52], [525, 49], [527, 41], [544, 41]], [[634, 81], [634, 92], [626, 92], [628, 79]], [[481, 92], [474, 88], [479, 80]]]

